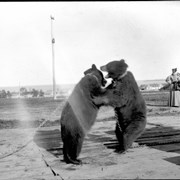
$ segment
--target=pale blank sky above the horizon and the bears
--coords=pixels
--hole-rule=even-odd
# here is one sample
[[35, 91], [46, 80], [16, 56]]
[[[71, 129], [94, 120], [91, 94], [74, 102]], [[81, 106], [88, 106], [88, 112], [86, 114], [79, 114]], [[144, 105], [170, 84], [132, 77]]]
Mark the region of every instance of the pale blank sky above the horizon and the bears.
[[180, 2], [0, 2], [0, 87], [57, 84], [125, 59], [136, 80], [180, 72]]

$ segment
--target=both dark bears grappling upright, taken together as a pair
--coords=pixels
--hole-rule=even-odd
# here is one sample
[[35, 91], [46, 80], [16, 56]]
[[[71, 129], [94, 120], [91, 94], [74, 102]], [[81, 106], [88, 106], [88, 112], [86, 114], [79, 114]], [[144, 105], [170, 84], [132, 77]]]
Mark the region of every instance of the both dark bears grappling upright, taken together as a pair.
[[124, 60], [101, 66], [100, 69], [108, 73], [106, 78], [113, 79], [105, 89], [101, 86], [106, 81], [95, 65], [86, 71], [85, 77], [76, 85], [61, 116], [63, 153], [67, 163], [80, 163], [77, 157], [84, 137], [95, 122], [100, 106], [114, 107], [117, 116], [115, 133], [119, 141], [116, 151], [119, 153], [126, 151], [144, 131], [146, 104], [127, 67]]

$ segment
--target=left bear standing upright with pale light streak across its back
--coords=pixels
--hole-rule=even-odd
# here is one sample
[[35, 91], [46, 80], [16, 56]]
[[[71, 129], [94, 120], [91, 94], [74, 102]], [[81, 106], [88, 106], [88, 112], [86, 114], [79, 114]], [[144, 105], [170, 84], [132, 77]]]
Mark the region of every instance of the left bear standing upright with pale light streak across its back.
[[66, 163], [81, 163], [77, 157], [81, 152], [84, 137], [94, 124], [100, 107], [94, 104], [93, 96], [103, 93], [102, 86], [107, 82], [94, 64], [84, 72], [84, 75], [75, 86], [61, 114], [61, 137]]

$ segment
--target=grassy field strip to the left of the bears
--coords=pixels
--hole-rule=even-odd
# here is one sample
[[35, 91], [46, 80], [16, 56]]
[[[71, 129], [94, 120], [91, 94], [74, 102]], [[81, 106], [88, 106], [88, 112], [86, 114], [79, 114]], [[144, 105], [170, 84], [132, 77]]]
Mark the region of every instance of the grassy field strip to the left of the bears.
[[57, 125], [64, 103], [52, 98], [1, 99], [0, 129], [37, 127], [44, 120], [46, 126]]

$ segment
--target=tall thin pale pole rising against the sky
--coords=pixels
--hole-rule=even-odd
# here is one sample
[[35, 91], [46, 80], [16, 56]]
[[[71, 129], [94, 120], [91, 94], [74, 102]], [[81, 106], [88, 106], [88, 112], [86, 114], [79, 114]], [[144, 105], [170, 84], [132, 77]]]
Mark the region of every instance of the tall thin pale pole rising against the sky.
[[56, 99], [56, 80], [55, 80], [55, 56], [54, 56], [54, 43], [55, 39], [53, 36], [53, 20], [54, 17], [51, 16], [51, 39], [52, 39], [52, 71], [53, 71], [53, 98]]

